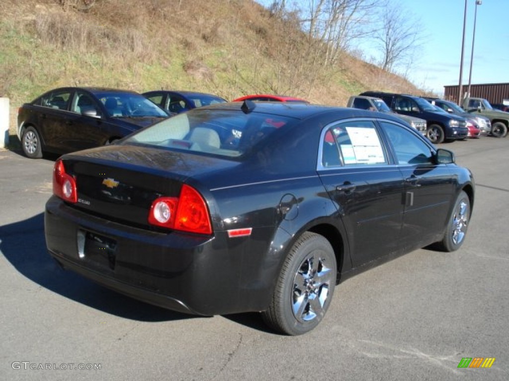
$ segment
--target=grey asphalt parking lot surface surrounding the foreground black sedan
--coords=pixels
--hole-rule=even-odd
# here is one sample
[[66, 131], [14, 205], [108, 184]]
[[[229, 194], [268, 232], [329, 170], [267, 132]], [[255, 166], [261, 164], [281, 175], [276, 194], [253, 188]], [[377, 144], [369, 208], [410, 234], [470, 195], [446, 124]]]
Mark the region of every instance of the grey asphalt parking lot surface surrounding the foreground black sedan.
[[[52, 160], [0, 151], [0, 379], [509, 379], [509, 138], [442, 144], [476, 180], [466, 242], [340, 284], [314, 331], [193, 317], [119, 295], [47, 255]], [[491, 368], [458, 368], [495, 358]]]

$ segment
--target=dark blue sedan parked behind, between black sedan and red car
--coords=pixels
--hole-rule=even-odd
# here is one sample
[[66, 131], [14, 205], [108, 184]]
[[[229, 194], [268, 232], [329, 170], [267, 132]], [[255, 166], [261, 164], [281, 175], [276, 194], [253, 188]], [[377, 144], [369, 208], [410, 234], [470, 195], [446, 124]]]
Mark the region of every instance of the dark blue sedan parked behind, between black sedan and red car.
[[197, 91], [155, 90], [144, 92], [143, 96], [171, 115], [180, 114], [197, 107], [226, 102], [221, 97]]

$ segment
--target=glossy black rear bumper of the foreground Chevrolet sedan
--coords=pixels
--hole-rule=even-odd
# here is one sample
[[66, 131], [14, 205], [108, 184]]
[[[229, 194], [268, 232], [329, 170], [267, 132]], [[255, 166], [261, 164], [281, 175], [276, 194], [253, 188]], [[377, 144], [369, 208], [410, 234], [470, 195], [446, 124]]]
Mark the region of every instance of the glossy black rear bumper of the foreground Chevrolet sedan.
[[[44, 216], [49, 254], [107, 288], [171, 310], [214, 315], [259, 311], [243, 293], [242, 257], [213, 237], [162, 234], [104, 220], [51, 197]], [[258, 284], [257, 295], [266, 294]], [[263, 298], [265, 299], [265, 298]]]

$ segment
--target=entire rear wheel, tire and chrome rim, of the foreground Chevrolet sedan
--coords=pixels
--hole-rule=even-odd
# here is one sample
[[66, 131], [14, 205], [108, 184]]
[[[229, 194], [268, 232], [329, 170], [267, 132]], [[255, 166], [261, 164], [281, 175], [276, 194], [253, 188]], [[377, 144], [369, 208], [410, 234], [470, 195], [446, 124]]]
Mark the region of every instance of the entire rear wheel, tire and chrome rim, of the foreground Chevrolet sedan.
[[290, 249], [276, 283], [265, 323], [287, 335], [314, 329], [325, 316], [336, 285], [334, 250], [323, 236], [306, 232]]

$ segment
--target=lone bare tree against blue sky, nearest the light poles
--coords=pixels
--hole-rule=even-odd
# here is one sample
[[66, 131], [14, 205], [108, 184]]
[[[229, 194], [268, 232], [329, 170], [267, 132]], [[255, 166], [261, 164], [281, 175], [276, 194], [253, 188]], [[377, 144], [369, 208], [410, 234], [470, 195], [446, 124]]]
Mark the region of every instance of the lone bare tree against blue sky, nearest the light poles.
[[387, 3], [382, 14], [381, 27], [374, 38], [381, 53], [380, 66], [386, 71], [408, 66], [417, 48], [422, 45], [421, 27], [415, 17], [399, 3]]

